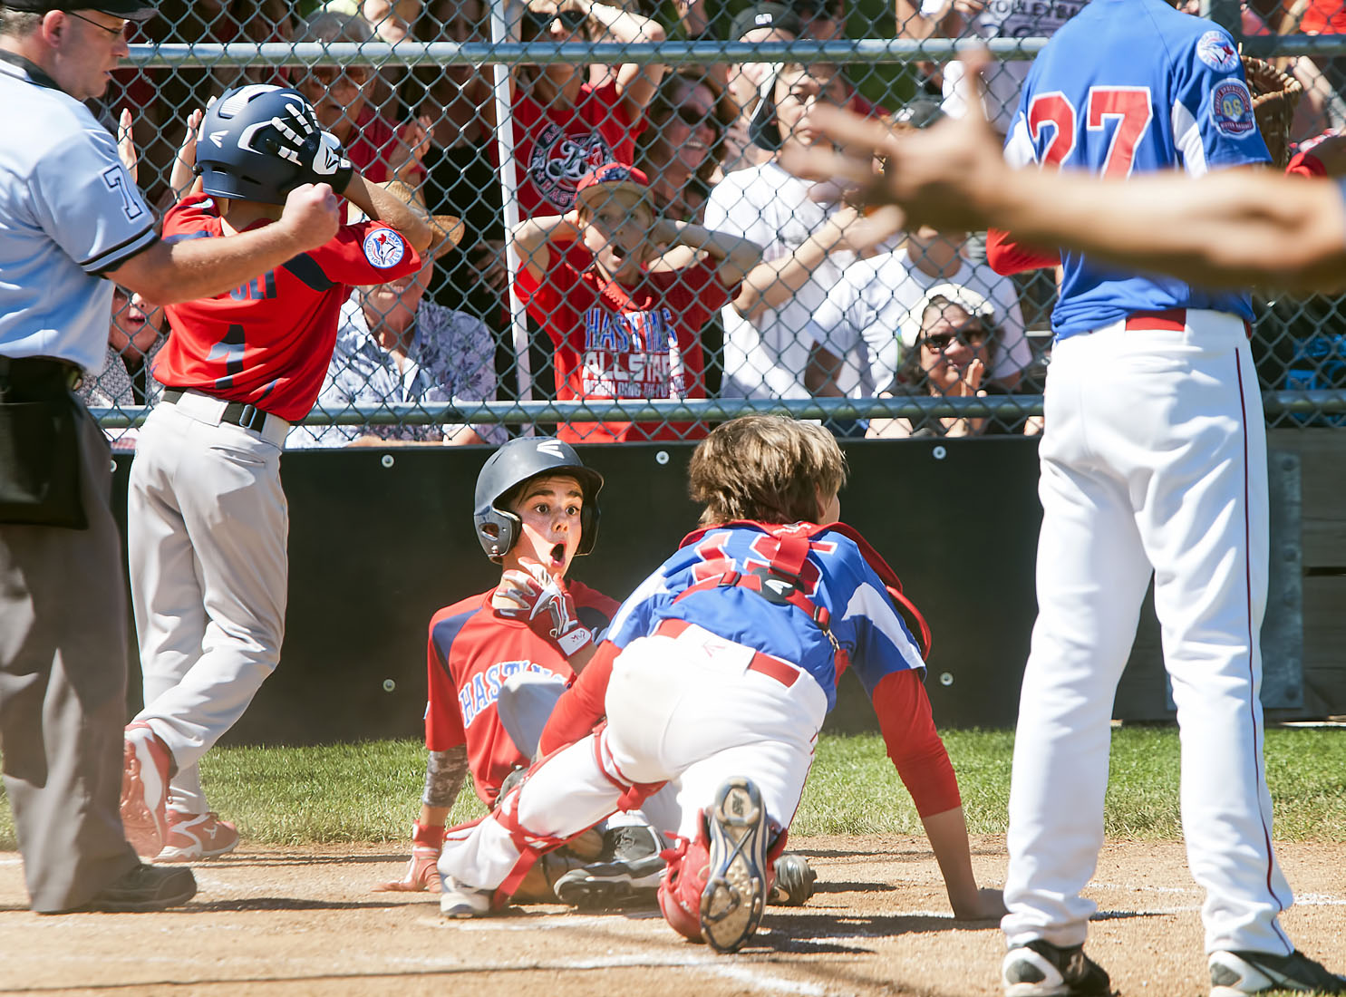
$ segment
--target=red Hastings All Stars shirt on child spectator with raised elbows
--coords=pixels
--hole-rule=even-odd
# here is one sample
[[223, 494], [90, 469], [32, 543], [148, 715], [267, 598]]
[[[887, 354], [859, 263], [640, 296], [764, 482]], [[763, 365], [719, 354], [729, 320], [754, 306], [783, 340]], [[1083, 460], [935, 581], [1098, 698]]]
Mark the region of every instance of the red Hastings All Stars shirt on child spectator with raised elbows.
[[[541, 283], [524, 268], [518, 293], [556, 347], [556, 397], [704, 398], [701, 327], [734, 296], [712, 260], [681, 270], [646, 270], [634, 287], [615, 284], [575, 252], [553, 253]], [[690, 424], [569, 422], [571, 443], [685, 440]]]

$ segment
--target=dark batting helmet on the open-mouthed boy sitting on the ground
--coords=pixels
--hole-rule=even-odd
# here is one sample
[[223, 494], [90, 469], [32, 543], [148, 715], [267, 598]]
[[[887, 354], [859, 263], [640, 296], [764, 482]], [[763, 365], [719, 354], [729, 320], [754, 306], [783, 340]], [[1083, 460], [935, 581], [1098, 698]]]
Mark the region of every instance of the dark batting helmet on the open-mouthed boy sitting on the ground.
[[598, 540], [598, 494], [603, 488], [603, 475], [584, 467], [580, 455], [568, 443], [551, 436], [521, 436], [510, 440], [486, 459], [476, 475], [476, 540], [493, 561], [499, 561], [518, 540], [524, 521], [499, 503], [529, 478], [564, 474], [575, 478], [584, 490], [580, 510], [580, 544], [576, 554], [587, 554]]

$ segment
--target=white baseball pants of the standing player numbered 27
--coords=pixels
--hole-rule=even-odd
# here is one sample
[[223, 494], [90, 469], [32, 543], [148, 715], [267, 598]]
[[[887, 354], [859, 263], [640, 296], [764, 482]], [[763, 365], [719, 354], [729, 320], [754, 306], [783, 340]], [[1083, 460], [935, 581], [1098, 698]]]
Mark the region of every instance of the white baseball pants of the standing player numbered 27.
[[1003, 928], [1085, 940], [1109, 718], [1151, 570], [1182, 740], [1182, 821], [1206, 950], [1288, 953], [1271, 846], [1259, 631], [1267, 440], [1240, 319], [1121, 323], [1053, 348], [1039, 451], [1038, 622], [1019, 704]]

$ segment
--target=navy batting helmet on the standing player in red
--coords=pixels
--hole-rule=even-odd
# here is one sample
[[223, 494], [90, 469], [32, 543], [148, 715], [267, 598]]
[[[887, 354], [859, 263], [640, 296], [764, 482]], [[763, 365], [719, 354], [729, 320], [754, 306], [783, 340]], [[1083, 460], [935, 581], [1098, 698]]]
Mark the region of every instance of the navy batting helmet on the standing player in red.
[[297, 163], [280, 155], [280, 132], [272, 118], [287, 104], [314, 113], [299, 90], [269, 83], [226, 90], [210, 105], [197, 143], [197, 172], [206, 194], [284, 205], [285, 195], [307, 180]]

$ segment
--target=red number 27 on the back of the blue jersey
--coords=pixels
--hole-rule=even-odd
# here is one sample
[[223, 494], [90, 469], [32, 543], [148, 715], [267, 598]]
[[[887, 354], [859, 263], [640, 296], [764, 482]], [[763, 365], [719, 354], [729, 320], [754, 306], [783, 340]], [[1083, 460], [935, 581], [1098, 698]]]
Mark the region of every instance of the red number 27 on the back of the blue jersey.
[[[1136, 164], [1136, 147], [1144, 140], [1155, 116], [1149, 87], [1090, 86], [1085, 110], [1085, 128], [1090, 132], [1101, 132], [1109, 122], [1114, 125], [1100, 174], [1113, 179], [1131, 176]], [[1047, 148], [1042, 153], [1043, 165], [1061, 165], [1075, 151], [1078, 117], [1074, 104], [1063, 93], [1044, 93], [1032, 98], [1028, 106], [1028, 133], [1034, 143], [1040, 140], [1043, 128], [1051, 129]]]

